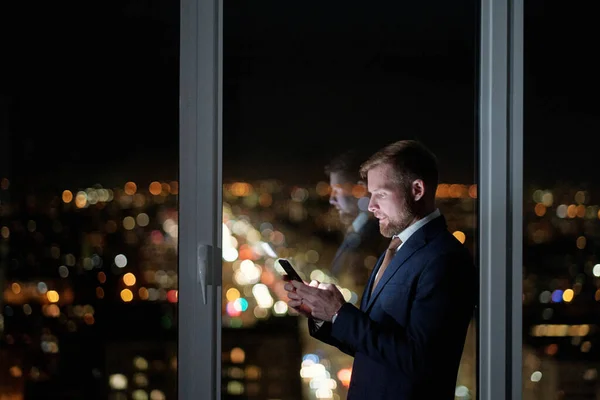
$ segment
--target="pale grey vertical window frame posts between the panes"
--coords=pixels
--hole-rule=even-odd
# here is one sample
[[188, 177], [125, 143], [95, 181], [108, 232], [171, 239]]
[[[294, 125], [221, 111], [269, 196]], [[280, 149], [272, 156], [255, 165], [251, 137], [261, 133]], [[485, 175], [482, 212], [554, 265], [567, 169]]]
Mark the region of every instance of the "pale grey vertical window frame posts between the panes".
[[[181, 0], [179, 399], [220, 399], [223, 0]], [[480, 3], [478, 398], [522, 397], [523, 0]]]

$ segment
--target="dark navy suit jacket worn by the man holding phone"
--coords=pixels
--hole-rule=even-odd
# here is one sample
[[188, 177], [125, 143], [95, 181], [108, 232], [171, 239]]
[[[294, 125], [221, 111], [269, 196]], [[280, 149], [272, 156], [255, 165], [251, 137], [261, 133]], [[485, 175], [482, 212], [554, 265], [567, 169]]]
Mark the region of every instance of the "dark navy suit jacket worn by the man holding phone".
[[454, 399], [456, 375], [477, 297], [468, 250], [437, 217], [402, 245], [360, 309], [350, 303], [335, 323], [311, 335], [354, 356], [349, 400]]

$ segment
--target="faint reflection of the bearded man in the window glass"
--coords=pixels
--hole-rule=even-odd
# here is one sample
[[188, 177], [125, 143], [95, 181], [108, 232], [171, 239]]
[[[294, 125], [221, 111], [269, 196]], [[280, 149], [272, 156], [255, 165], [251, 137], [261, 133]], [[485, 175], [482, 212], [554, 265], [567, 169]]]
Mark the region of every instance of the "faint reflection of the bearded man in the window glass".
[[360, 165], [366, 159], [361, 152], [351, 150], [334, 157], [325, 167], [331, 192], [329, 203], [337, 210], [344, 230], [344, 239], [331, 262], [331, 274], [350, 277], [351, 283], [364, 287], [370, 270], [365, 265], [368, 256], [377, 256], [385, 247], [379, 234], [377, 219], [369, 214], [369, 197]]

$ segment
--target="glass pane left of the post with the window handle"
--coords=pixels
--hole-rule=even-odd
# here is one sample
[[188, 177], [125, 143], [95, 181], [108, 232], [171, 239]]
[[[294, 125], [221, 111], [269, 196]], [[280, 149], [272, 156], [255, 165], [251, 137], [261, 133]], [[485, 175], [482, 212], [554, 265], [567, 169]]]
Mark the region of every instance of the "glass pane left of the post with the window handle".
[[178, 4], [0, 15], [0, 398], [175, 399]]

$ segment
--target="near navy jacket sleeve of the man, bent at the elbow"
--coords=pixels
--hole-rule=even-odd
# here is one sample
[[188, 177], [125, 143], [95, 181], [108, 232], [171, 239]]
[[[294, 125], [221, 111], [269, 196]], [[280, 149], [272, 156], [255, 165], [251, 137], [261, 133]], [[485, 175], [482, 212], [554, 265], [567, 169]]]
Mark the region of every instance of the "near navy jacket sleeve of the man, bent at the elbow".
[[[475, 277], [474, 266], [465, 253], [438, 256], [425, 266], [418, 279], [405, 327], [397, 323], [384, 327], [345, 304], [330, 335], [340, 346], [419, 380], [427, 371], [435, 370], [433, 363], [444, 353], [448, 338], [460, 336], [448, 334], [449, 329], [460, 332], [462, 325], [466, 329], [473, 313]], [[393, 310], [390, 314], [393, 316]]]

